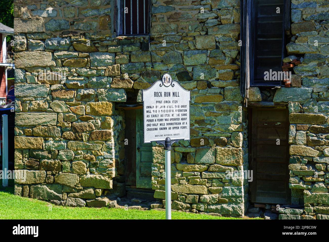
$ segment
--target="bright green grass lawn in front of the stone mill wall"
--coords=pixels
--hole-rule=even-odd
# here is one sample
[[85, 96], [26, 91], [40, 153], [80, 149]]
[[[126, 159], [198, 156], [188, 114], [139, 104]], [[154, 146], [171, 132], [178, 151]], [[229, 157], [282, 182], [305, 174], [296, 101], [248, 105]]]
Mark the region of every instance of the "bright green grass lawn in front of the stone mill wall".
[[[50, 209], [51, 207], [51, 209]], [[0, 219], [165, 219], [159, 210], [55, 206], [13, 195], [13, 188], [0, 186]], [[207, 214], [172, 212], [172, 219], [239, 219]]]

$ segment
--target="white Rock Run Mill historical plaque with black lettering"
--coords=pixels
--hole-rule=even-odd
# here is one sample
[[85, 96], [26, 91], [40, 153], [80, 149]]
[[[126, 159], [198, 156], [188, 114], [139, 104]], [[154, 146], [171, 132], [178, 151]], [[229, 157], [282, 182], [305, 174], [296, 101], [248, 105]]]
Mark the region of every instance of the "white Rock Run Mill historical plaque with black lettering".
[[144, 143], [190, 140], [190, 91], [164, 73], [148, 89], [142, 90]]

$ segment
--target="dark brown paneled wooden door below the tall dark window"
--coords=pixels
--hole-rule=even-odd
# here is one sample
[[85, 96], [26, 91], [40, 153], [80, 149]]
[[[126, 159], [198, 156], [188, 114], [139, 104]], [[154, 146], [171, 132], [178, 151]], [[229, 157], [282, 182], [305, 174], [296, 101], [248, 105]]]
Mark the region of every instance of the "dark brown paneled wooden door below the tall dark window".
[[288, 111], [254, 108], [251, 125], [251, 202], [290, 204]]

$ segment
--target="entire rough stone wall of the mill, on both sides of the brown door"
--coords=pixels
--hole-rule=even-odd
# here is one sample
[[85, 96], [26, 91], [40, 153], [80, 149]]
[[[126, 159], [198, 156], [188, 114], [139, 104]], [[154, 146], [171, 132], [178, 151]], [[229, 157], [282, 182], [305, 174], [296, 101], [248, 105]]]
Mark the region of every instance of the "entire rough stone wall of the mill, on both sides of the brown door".
[[[116, 107], [140, 102], [139, 90], [168, 72], [191, 91], [190, 141], [172, 151], [172, 208], [244, 215], [248, 181], [227, 176], [248, 170], [239, 0], [153, 0], [150, 51], [148, 36], [116, 37], [113, 0], [14, 3], [15, 169], [27, 174], [16, 194], [114, 206], [105, 196], [124, 194], [125, 178], [125, 117]], [[328, 219], [329, 2], [292, 0], [291, 8], [287, 50], [303, 57], [293, 87], [252, 88], [249, 101], [289, 102], [292, 202], [305, 211], [282, 209], [281, 218]], [[66, 78], [49, 80], [44, 70]], [[155, 144], [152, 189], [164, 199], [164, 151]]]

